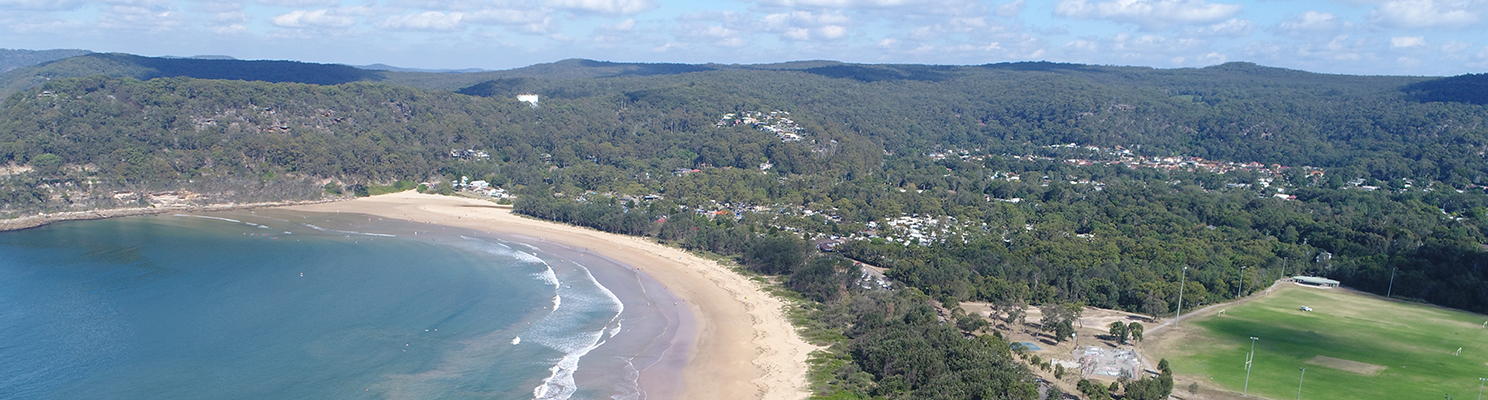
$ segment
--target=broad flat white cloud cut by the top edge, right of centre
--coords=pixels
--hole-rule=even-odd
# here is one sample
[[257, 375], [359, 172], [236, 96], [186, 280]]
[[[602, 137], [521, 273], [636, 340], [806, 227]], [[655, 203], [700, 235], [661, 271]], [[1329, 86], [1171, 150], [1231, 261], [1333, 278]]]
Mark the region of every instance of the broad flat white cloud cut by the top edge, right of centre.
[[1164, 28], [1173, 24], [1207, 24], [1240, 13], [1240, 4], [1207, 3], [1204, 0], [1112, 0], [1089, 3], [1064, 0], [1054, 13], [1068, 18], [1097, 18]]

